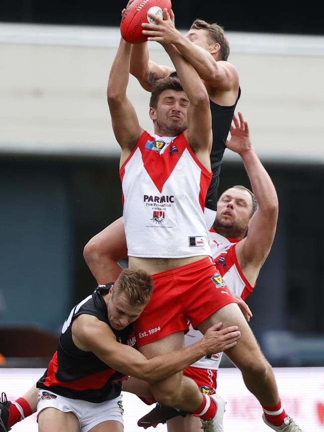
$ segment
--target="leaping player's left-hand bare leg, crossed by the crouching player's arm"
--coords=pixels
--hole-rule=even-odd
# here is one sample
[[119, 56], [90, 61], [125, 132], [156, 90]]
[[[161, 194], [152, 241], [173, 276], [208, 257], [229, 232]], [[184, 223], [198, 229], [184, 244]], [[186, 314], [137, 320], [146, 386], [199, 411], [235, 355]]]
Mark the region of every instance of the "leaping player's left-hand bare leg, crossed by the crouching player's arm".
[[[170, 334], [156, 342], [144, 345], [140, 351], [151, 359], [163, 353], [172, 352], [183, 347], [183, 332]], [[196, 383], [184, 377], [182, 372], [165, 380], [150, 384], [155, 399], [162, 405], [174, 407], [181, 411], [193, 413], [201, 406], [203, 397]]]

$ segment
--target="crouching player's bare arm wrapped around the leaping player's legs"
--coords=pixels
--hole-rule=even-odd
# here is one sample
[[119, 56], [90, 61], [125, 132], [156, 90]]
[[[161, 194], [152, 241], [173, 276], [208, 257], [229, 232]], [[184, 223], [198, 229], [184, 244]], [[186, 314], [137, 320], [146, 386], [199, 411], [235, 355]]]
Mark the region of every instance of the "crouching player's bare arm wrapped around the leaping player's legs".
[[117, 342], [107, 324], [94, 316], [84, 314], [77, 317], [72, 333], [79, 348], [92, 351], [113, 369], [153, 382], [182, 371], [204, 355], [235, 346], [241, 337], [238, 327], [221, 327], [222, 323], [218, 323], [210, 327], [199, 342], [150, 360], [136, 349]]

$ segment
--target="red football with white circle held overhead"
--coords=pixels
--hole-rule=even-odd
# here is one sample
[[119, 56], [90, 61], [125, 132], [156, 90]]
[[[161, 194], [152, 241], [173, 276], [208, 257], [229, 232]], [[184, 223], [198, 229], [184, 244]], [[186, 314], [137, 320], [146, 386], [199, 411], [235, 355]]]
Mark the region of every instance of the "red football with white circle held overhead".
[[148, 36], [142, 34], [142, 23], [155, 24], [155, 20], [148, 16], [148, 12], [163, 17], [165, 7], [170, 13], [170, 0], [134, 0], [122, 16], [120, 30], [123, 39], [130, 43], [146, 42]]

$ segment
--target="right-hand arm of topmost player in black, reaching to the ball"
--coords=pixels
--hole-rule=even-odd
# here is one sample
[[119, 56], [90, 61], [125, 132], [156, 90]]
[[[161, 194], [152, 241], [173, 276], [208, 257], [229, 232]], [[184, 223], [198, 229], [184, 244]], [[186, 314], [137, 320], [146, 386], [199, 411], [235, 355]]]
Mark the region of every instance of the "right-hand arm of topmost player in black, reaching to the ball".
[[174, 26], [174, 15], [162, 23], [159, 22], [158, 25], [143, 23], [142, 27], [148, 40], [173, 44], [196, 69], [200, 78], [210, 86], [224, 91], [238, 89], [239, 76], [235, 66], [227, 61], [216, 61], [212, 56], [220, 50], [219, 43], [210, 45], [209, 50], [195, 45], [192, 42], [195, 38], [194, 30], [188, 37], [183, 36]]

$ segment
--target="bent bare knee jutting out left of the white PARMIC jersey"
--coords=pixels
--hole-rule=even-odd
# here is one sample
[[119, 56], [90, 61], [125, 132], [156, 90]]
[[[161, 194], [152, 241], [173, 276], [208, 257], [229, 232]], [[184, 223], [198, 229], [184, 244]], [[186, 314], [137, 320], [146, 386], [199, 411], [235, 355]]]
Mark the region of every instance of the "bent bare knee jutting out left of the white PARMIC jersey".
[[117, 261], [127, 257], [123, 218], [95, 235], [85, 245], [83, 256], [98, 284], [115, 281], [122, 271]]

